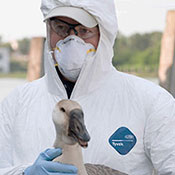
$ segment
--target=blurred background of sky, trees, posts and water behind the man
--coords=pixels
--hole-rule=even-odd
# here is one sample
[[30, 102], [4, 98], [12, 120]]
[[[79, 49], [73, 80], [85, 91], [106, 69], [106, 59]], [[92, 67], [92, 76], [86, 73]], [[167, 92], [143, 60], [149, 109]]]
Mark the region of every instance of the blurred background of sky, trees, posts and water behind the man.
[[[114, 66], [175, 95], [175, 0], [115, 0]], [[43, 75], [45, 24], [40, 0], [0, 3], [0, 101]]]

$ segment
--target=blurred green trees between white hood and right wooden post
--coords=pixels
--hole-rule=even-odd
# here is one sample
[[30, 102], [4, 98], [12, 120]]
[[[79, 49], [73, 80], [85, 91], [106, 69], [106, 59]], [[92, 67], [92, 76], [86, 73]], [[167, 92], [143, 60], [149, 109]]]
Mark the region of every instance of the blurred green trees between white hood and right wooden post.
[[127, 72], [157, 72], [161, 37], [161, 32], [130, 37], [119, 34], [114, 45], [114, 66]]

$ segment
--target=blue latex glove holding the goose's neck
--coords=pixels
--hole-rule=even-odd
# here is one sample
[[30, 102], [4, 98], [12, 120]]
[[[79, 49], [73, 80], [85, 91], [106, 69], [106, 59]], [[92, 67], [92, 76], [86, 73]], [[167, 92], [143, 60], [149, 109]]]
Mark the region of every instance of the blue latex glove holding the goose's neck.
[[62, 154], [60, 148], [47, 149], [40, 153], [34, 164], [25, 169], [25, 175], [77, 175], [77, 168], [73, 165], [53, 162]]

